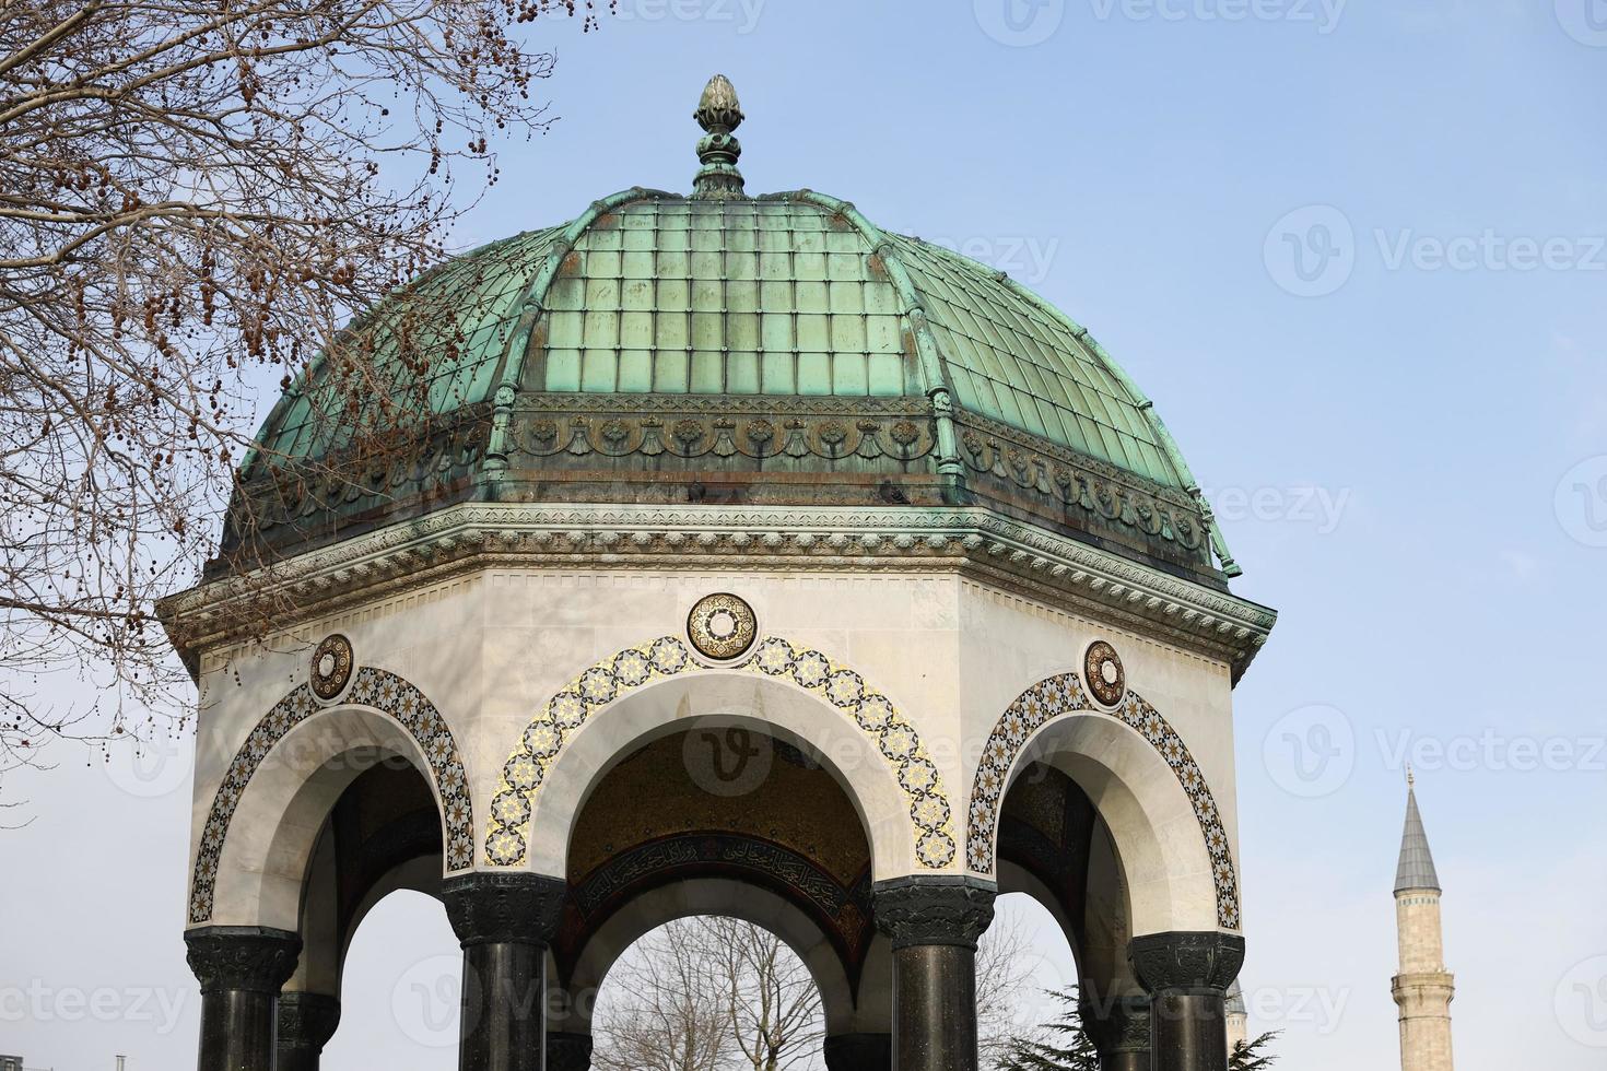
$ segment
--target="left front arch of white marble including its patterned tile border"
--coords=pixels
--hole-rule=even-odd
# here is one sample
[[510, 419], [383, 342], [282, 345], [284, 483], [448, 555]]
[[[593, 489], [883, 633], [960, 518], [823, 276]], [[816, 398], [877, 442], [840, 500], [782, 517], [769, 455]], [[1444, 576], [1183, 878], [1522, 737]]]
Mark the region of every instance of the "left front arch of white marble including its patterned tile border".
[[[333, 731], [310, 732], [313, 723], [329, 723]], [[450, 726], [415, 684], [363, 666], [337, 703], [320, 703], [307, 684], [292, 689], [239, 745], [212, 796], [196, 849], [191, 925], [212, 920], [220, 880], [257, 880], [257, 914], [272, 914], [276, 922], [249, 922], [296, 928], [301, 883], [318, 829], [341, 790], [362, 772], [357, 764], [331, 769], [326, 763], [354, 751], [370, 751], [373, 763], [397, 758], [418, 769], [435, 795], [447, 873], [472, 865], [474, 809]], [[267, 763], [270, 755], [283, 761]], [[228, 833], [243, 806], [265, 816], [268, 832], [252, 830], [238, 843], [241, 837], [230, 840]]]

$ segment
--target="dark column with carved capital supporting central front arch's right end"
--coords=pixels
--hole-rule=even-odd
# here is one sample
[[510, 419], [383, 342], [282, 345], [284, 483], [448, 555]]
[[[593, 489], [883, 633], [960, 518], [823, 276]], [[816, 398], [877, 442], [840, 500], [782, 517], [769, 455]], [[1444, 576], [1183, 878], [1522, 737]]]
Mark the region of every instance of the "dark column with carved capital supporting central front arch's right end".
[[876, 925], [893, 946], [897, 1071], [977, 1071], [977, 938], [996, 891], [963, 877], [876, 885]]

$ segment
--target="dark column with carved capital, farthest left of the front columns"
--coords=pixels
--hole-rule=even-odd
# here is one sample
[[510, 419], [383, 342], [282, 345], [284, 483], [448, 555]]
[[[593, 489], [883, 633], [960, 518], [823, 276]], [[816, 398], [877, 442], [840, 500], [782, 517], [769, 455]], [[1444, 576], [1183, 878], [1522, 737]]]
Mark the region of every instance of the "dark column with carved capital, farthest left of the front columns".
[[202, 926], [185, 933], [201, 981], [196, 1071], [273, 1071], [275, 1012], [296, 971], [301, 938], [268, 926]]

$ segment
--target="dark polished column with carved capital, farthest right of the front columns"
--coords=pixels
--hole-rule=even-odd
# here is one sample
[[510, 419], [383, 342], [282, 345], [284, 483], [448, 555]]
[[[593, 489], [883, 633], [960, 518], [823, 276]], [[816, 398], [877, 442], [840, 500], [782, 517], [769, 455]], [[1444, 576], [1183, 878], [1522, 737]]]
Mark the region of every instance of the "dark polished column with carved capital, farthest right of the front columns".
[[1236, 933], [1151, 933], [1128, 943], [1149, 991], [1154, 1071], [1228, 1071], [1228, 986], [1244, 965]]

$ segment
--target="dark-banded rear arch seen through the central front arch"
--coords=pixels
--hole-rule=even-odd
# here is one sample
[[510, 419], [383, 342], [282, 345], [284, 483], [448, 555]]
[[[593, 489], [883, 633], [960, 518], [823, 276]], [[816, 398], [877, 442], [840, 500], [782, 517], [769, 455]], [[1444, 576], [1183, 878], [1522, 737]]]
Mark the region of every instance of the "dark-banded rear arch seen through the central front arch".
[[[858, 1021], [855, 988], [829, 938], [807, 912], [784, 896], [731, 878], [691, 878], [660, 885], [633, 898], [587, 939], [567, 979], [567, 991], [595, 994], [630, 946], [665, 923], [699, 915], [725, 915], [749, 922], [776, 935], [791, 947], [820, 991], [828, 1034], [889, 1029], [887, 1023], [866, 1026]], [[590, 1031], [590, 1000], [577, 1000], [564, 1024], [566, 1029]]]

